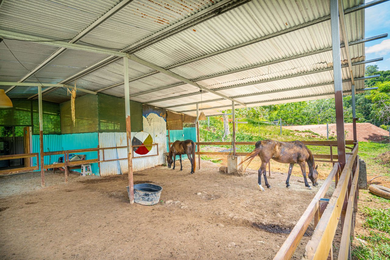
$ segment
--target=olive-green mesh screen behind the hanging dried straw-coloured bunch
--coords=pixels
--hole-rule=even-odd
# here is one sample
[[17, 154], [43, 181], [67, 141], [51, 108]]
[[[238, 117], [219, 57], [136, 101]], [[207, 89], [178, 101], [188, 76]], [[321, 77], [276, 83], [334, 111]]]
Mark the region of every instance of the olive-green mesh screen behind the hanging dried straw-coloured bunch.
[[62, 134], [98, 132], [97, 95], [87, 94], [74, 100], [75, 124], [72, 121], [71, 101], [60, 104]]

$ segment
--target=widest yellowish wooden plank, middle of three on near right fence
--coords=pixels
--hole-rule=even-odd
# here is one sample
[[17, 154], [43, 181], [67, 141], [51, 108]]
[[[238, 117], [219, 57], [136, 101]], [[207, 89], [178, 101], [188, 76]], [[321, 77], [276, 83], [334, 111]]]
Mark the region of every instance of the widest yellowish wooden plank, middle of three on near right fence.
[[336, 232], [337, 224], [347, 192], [349, 178], [351, 176], [352, 165], [358, 152], [358, 145], [353, 150], [353, 155], [347, 155], [347, 162], [342, 171], [339, 183], [332, 198], [326, 207], [323, 217], [321, 217], [312, 238], [306, 245], [303, 259], [326, 259], [327, 255], [323, 252], [329, 252], [332, 247], [333, 237]]

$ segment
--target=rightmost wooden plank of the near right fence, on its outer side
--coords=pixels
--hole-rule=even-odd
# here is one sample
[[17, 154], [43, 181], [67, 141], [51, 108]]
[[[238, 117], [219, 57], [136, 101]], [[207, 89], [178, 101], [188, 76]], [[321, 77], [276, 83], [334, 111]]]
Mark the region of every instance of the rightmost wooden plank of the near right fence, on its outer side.
[[349, 253], [349, 243], [350, 243], [349, 237], [351, 234], [351, 220], [353, 216], [353, 205], [355, 202], [355, 191], [356, 191], [357, 183], [358, 183], [358, 174], [355, 174], [351, 185], [351, 191], [349, 192], [347, 213], [345, 215], [346, 221], [344, 221], [344, 226], [342, 228], [338, 259], [347, 259]]

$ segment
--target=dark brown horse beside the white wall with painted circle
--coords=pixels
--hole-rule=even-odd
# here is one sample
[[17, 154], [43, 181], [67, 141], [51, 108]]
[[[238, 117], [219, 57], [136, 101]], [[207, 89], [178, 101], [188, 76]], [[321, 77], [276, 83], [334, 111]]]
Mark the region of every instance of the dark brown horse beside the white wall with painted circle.
[[[179, 155], [180, 158], [180, 171], [183, 171], [183, 165], [181, 164], [181, 155], [186, 154], [188, 159], [191, 162], [191, 174], [195, 173], [195, 142], [190, 139], [185, 141], [175, 141], [171, 148], [169, 149], [169, 153], [167, 155], [167, 163], [168, 168], [171, 167], [173, 162], [173, 170], [175, 169], [175, 161], [176, 155]], [[192, 158], [191, 158], [192, 155]]]

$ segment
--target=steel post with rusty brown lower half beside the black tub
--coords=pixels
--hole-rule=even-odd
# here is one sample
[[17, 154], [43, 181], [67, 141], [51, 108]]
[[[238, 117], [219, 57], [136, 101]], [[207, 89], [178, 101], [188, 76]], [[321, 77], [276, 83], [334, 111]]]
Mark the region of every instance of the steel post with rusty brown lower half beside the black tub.
[[129, 90], [129, 60], [123, 58], [124, 66], [124, 100], [126, 108], [126, 139], [127, 139], [127, 163], [129, 175], [129, 200], [134, 203], [134, 182], [133, 182], [133, 158], [131, 148], [131, 126], [130, 126], [130, 90]]

